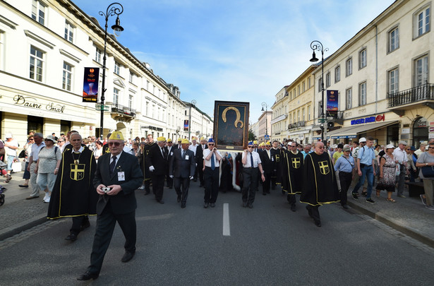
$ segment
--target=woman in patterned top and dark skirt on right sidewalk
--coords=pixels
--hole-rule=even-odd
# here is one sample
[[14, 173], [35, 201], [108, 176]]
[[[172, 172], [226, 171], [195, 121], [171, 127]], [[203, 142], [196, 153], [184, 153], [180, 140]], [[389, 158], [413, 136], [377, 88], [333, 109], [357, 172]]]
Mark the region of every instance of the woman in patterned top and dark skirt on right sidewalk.
[[396, 184], [396, 173], [397, 173], [397, 162], [393, 155], [394, 145], [389, 144], [386, 146], [385, 155], [380, 157], [380, 174], [377, 183], [377, 197], [380, 197], [380, 191], [387, 191], [387, 201], [395, 203], [396, 201], [392, 198], [392, 193], [395, 189]]

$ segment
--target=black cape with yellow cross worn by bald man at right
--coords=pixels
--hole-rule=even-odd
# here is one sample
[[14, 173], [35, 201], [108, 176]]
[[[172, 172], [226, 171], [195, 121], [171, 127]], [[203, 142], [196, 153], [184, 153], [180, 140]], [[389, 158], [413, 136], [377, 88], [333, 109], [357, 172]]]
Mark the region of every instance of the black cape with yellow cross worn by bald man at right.
[[330, 156], [327, 152], [323, 155], [309, 153], [304, 160], [300, 202], [323, 205], [337, 201], [339, 201], [339, 190]]

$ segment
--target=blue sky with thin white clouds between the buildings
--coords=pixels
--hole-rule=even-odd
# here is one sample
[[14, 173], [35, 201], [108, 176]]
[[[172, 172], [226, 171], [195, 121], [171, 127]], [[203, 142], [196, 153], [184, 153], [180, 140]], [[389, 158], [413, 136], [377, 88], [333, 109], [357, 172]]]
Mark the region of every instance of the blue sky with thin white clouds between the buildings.
[[[73, 0], [104, 25], [112, 1]], [[258, 120], [310, 66], [310, 44], [335, 52], [392, 0], [126, 0], [119, 42], [213, 116], [214, 100], [251, 102]], [[115, 18], [109, 18], [109, 27]], [[269, 108], [270, 109], [270, 108]]]

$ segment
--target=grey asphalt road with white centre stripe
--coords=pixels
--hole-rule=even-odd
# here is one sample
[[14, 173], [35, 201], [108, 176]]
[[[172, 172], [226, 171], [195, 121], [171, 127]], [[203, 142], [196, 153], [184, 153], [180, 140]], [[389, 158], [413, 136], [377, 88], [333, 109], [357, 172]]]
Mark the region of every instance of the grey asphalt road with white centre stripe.
[[[100, 278], [79, 282], [90, 261], [95, 220], [76, 242], [64, 237], [71, 220], [57, 220], [0, 242], [0, 285], [432, 285], [434, 250], [380, 222], [320, 208], [322, 227], [305, 205], [289, 210], [282, 193], [258, 192], [254, 208], [241, 193], [219, 193], [203, 208], [192, 182], [187, 208], [164, 190], [164, 205], [137, 191], [137, 252], [121, 263], [123, 234], [116, 226]], [[223, 235], [224, 203], [230, 235]]]

